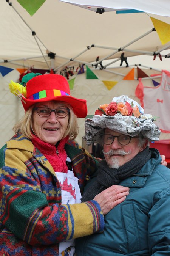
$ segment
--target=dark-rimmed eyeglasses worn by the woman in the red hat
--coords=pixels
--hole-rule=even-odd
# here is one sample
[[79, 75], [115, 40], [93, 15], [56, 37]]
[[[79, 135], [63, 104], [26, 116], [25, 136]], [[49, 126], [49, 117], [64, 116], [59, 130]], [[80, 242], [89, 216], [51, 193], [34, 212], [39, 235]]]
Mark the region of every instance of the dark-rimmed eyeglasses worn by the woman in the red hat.
[[56, 108], [56, 109], [34, 108], [34, 110], [37, 110], [37, 114], [39, 116], [43, 116], [43, 117], [48, 117], [51, 115], [51, 112], [54, 112], [56, 117], [64, 118], [64, 117], [68, 116], [68, 114], [70, 113], [70, 109], [68, 109], [68, 108]]

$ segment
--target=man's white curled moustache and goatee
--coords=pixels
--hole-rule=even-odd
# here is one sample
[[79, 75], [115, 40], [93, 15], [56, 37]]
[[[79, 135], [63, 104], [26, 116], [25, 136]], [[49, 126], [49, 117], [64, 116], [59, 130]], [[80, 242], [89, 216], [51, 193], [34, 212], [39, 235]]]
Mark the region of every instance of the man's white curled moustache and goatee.
[[[104, 152], [103, 151], [103, 154], [104, 155], [127, 155], [127, 154], [130, 154], [131, 153], [131, 150], [129, 152], [125, 152], [124, 150], [113, 150], [113, 149], [110, 149], [110, 151], [108, 152]], [[110, 168], [115, 168], [115, 169], [118, 169], [121, 165], [119, 163], [119, 160], [116, 158], [116, 157], [113, 157], [111, 158], [111, 163], [108, 163], [107, 159], [106, 159], [106, 162], [107, 162], [107, 165], [110, 167]]]

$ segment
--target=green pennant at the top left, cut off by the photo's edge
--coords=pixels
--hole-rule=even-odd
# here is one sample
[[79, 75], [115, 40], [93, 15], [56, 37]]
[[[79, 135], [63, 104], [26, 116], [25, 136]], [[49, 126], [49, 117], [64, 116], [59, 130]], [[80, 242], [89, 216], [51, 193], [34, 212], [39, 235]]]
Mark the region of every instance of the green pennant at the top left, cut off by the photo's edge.
[[26, 11], [32, 16], [46, 0], [17, 0]]

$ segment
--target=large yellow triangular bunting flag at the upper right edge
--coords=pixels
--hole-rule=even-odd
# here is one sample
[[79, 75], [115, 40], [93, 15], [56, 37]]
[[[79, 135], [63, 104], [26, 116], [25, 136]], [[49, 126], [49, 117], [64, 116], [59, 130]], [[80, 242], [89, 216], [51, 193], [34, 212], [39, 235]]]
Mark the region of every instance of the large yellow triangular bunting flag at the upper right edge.
[[150, 17], [162, 44], [170, 41], [170, 24]]

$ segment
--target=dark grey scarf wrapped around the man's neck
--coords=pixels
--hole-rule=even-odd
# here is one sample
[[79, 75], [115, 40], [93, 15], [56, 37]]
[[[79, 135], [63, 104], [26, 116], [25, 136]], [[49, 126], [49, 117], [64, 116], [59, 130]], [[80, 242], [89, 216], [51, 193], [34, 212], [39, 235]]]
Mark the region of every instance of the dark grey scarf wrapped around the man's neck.
[[102, 160], [98, 165], [98, 174], [96, 181], [83, 193], [82, 202], [93, 200], [94, 196], [105, 190], [106, 188], [117, 185], [121, 180], [124, 180], [133, 174], [137, 173], [142, 166], [151, 158], [151, 152], [146, 147], [139, 152], [133, 159], [125, 163], [118, 169], [109, 168], [106, 161]]

